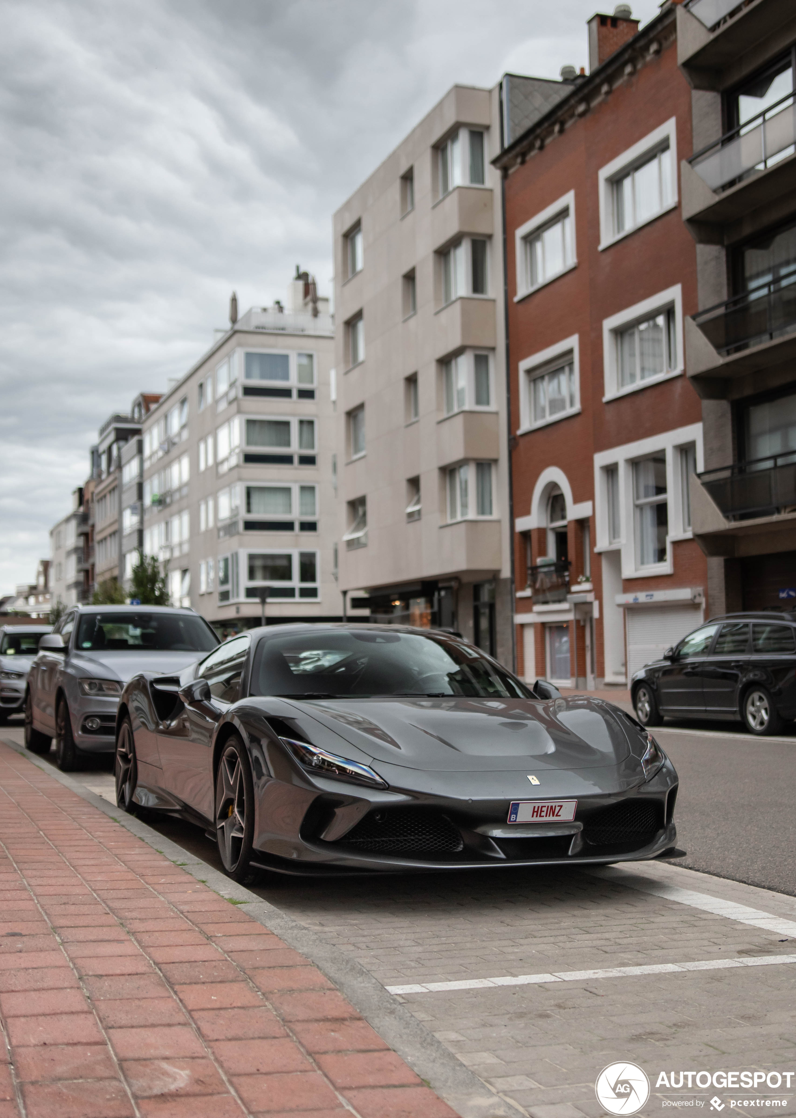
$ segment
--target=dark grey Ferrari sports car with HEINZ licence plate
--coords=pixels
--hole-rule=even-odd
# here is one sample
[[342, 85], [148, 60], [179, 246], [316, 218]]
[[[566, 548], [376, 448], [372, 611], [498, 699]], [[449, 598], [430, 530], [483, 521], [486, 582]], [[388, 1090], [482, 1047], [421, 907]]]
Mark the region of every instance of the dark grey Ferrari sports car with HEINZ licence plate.
[[115, 771], [120, 807], [205, 827], [237, 881], [619, 862], [676, 839], [676, 773], [634, 718], [434, 629], [256, 628], [139, 674]]

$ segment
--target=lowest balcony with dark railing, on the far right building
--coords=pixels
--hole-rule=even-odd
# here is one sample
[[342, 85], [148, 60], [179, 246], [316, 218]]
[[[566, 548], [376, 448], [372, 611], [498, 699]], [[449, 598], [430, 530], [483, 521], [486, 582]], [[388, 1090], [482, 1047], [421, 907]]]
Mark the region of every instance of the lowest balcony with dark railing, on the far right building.
[[705, 555], [796, 548], [796, 452], [707, 470], [690, 484], [691, 525]]

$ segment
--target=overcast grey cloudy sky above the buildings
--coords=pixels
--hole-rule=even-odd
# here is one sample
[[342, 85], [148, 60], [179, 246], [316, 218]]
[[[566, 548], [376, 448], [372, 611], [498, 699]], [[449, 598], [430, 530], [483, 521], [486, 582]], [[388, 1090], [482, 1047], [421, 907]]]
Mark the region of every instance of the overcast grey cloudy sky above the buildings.
[[[604, 10], [613, 10], [612, 3]], [[3, 0], [0, 594], [104, 419], [329, 291], [331, 214], [454, 83], [586, 65], [593, 0]], [[635, 0], [642, 20], [654, 0]]]

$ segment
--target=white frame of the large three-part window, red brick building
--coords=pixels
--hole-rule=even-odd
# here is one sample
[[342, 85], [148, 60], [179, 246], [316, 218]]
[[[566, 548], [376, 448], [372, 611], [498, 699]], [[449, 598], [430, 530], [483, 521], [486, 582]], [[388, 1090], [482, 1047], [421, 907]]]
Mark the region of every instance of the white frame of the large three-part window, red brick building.
[[[676, 427], [672, 430], [625, 443], [595, 454], [595, 521], [596, 555], [603, 551], [619, 551], [623, 578], [652, 578], [671, 575], [674, 571], [672, 543], [693, 539], [691, 529], [683, 524], [682, 484], [680, 476], [680, 449], [693, 445], [696, 453], [696, 472], [704, 470], [702, 448], [702, 424]], [[635, 547], [635, 505], [633, 501], [633, 463], [652, 454], [666, 455], [666, 500], [669, 505], [669, 536], [666, 560], [650, 567], [638, 567]], [[608, 491], [606, 468], [617, 467], [619, 539], [608, 539]]]

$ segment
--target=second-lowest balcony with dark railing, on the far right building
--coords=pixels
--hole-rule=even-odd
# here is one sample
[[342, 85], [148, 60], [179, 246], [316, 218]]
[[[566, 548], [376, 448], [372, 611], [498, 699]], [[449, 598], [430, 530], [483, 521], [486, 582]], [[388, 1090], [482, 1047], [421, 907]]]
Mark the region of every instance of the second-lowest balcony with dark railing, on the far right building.
[[[796, 274], [735, 295], [685, 320], [685, 366], [703, 398], [778, 383], [796, 359]], [[760, 382], [760, 373], [766, 383]], [[755, 377], [752, 383], [746, 378]], [[779, 378], [781, 380], [781, 377]]]

